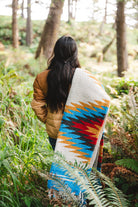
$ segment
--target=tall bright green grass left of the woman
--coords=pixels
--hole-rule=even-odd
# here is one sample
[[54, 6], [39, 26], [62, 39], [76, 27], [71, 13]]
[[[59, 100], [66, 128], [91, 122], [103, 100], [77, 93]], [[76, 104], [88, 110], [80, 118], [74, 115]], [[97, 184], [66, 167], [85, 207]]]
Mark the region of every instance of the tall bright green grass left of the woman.
[[42, 206], [31, 166], [43, 168], [41, 154], [51, 153], [45, 126], [30, 106], [32, 82], [21, 74], [16, 66], [0, 66], [0, 206], [7, 207]]

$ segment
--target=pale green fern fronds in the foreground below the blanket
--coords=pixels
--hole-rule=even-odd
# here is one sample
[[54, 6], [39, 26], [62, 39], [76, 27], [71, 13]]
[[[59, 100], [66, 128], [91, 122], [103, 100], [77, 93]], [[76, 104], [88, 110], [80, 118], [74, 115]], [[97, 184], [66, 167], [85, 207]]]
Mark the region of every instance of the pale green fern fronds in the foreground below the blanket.
[[[93, 169], [89, 174], [87, 165], [77, 164], [77, 162], [72, 164], [59, 154], [56, 155], [55, 162], [66, 169], [67, 174], [81, 187], [90, 205], [95, 207], [128, 206], [123, 193], [115, 187], [108, 177], [96, 169]], [[101, 182], [105, 183], [107, 187], [103, 189]]]

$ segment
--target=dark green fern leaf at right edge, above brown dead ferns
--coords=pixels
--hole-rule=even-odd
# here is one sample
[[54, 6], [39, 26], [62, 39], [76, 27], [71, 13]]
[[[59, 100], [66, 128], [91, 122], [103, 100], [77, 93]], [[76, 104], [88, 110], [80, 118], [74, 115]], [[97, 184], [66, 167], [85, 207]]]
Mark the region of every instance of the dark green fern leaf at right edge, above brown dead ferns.
[[138, 161], [134, 160], [134, 159], [121, 159], [121, 160], [117, 160], [115, 162], [116, 165], [121, 165], [123, 167], [126, 167], [132, 171], [134, 171], [135, 173], [138, 173]]

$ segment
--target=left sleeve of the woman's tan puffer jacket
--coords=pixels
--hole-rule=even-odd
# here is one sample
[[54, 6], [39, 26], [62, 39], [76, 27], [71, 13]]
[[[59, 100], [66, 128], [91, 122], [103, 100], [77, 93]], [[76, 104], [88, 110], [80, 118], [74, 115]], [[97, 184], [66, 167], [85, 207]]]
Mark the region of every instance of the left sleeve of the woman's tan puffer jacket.
[[32, 109], [34, 110], [38, 119], [43, 123], [46, 123], [46, 118], [47, 118], [46, 94], [44, 94], [40, 86], [38, 75], [34, 81], [33, 88], [34, 88], [34, 94], [33, 94], [33, 100], [31, 102]]

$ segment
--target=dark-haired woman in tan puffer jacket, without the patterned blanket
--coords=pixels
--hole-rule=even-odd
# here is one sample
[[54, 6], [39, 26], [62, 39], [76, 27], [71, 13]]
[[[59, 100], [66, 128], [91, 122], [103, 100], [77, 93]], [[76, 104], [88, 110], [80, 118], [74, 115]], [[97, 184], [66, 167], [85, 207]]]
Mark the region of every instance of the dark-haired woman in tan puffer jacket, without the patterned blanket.
[[34, 99], [31, 106], [39, 120], [46, 124], [53, 150], [73, 74], [78, 67], [80, 63], [75, 40], [70, 36], [62, 36], [55, 44], [48, 69], [38, 74], [33, 84]]

